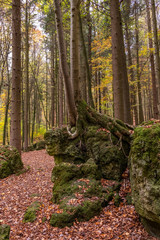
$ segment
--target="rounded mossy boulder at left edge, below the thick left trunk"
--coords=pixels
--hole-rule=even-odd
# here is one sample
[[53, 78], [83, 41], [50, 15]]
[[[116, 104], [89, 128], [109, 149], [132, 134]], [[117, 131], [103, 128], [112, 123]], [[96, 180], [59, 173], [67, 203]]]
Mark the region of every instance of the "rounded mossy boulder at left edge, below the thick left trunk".
[[16, 148], [0, 146], [0, 179], [19, 172], [23, 168], [21, 156]]

